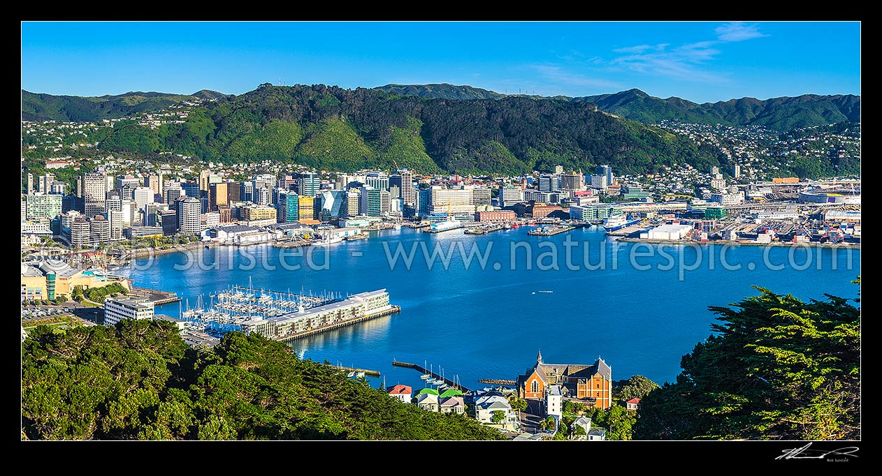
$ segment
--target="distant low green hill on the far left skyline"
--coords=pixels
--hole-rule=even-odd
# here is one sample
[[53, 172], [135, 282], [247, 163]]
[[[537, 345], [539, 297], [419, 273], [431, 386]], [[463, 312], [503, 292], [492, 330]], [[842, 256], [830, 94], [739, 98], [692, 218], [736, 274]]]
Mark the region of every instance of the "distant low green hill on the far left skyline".
[[25, 121], [93, 122], [139, 112], [159, 111], [183, 100], [218, 99], [226, 94], [203, 89], [193, 94], [142, 93], [97, 97], [56, 96], [21, 90], [21, 118]]

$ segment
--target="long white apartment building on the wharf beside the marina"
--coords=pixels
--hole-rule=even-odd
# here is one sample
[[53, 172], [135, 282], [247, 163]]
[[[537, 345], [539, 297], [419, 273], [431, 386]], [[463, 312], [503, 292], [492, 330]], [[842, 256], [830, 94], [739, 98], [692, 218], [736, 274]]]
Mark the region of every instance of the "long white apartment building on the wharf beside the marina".
[[285, 340], [296, 334], [318, 327], [340, 324], [352, 319], [374, 316], [392, 310], [389, 293], [385, 289], [353, 294], [343, 301], [325, 304], [312, 309], [270, 317], [253, 319], [242, 324], [246, 334], [257, 333], [265, 338]]

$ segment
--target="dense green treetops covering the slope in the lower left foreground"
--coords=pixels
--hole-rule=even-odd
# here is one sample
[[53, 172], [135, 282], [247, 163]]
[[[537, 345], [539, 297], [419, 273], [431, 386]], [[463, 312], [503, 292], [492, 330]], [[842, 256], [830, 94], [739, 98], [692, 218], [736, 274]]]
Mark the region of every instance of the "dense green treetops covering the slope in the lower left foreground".
[[193, 348], [175, 324], [126, 319], [40, 326], [21, 348], [21, 429], [32, 440], [502, 439], [257, 335]]

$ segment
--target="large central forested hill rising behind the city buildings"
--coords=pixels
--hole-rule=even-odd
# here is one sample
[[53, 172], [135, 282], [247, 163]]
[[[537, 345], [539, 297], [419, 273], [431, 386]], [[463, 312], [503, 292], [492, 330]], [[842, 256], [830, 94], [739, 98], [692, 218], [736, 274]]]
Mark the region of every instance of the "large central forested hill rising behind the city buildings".
[[669, 131], [597, 112], [588, 102], [441, 100], [339, 87], [262, 86], [151, 130], [117, 124], [108, 151], [180, 152], [228, 163], [293, 161], [325, 170], [410, 167], [418, 172], [520, 174], [563, 165], [618, 173], [721, 153]]

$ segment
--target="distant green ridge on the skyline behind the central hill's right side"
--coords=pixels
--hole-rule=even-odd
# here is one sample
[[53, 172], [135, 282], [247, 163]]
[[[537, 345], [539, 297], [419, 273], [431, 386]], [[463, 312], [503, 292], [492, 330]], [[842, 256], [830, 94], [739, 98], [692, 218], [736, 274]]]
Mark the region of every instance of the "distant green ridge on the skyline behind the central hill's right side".
[[[377, 89], [389, 93], [420, 97], [474, 100], [501, 99], [505, 94], [472, 86], [453, 85], [386, 85]], [[673, 120], [682, 123], [721, 123], [727, 125], [759, 125], [772, 130], [794, 130], [803, 127], [861, 120], [861, 97], [853, 94], [803, 94], [768, 100], [741, 98], [698, 104], [690, 100], [650, 96], [639, 89], [595, 96], [529, 96], [533, 99], [554, 99], [593, 102], [609, 114], [641, 123]]]

